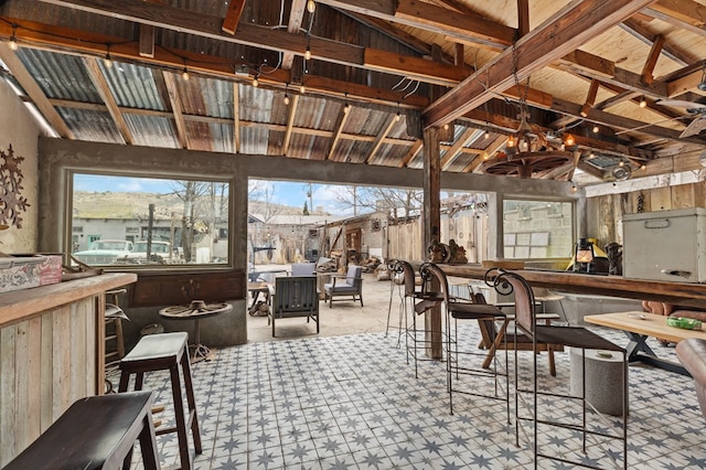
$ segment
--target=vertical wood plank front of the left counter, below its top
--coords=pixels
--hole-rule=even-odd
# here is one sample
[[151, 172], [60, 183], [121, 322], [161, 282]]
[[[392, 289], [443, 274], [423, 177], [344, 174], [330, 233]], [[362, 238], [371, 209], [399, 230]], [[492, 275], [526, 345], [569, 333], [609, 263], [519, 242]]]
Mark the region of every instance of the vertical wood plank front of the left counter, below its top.
[[99, 393], [100, 301], [87, 297], [0, 329], [0, 467], [73, 402]]

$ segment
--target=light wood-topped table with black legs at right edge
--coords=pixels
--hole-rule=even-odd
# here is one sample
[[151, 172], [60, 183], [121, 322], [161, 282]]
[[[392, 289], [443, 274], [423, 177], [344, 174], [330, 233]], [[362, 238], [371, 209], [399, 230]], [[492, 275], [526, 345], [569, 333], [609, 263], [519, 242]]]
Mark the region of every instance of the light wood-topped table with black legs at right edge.
[[681, 364], [657, 357], [656, 353], [646, 343], [649, 337], [678, 343], [687, 338], [702, 338], [706, 340], [706, 332], [702, 330], [684, 330], [666, 324], [666, 317], [645, 312], [619, 312], [603, 313], [584, 317], [587, 323], [622, 330], [630, 338], [628, 344], [628, 361], [641, 361], [654, 367], [676, 372], [689, 376]]

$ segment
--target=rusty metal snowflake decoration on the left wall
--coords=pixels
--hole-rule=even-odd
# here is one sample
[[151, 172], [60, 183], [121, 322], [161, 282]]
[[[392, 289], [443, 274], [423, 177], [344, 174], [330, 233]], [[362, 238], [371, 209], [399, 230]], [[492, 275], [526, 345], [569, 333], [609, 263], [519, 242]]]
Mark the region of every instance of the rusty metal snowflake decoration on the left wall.
[[20, 214], [30, 206], [26, 197], [22, 197], [20, 192], [22, 186], [22, 170], [20, 162], [24, 157], [15, 156], [12, 145], [8, 150], [0, 150], [0, 228], [14, 225], [22, 228], [22, 217]]

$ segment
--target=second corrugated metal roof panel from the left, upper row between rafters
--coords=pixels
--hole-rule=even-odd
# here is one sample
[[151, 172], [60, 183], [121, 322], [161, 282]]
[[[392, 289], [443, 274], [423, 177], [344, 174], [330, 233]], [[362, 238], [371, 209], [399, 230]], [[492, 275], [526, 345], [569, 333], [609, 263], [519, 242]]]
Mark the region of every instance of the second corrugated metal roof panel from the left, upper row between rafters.
[[159, 111], [168, 109], [151, 68], [116, 61], [111, 67], [106, 67], [103, 61], [98, 64], [118, 106]]

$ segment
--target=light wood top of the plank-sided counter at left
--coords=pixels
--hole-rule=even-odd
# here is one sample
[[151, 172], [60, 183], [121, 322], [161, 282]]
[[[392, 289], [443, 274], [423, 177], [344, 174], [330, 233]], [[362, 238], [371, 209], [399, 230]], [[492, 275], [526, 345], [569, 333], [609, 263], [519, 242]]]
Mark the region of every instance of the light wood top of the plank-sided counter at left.
[[0, 328], [43, 311], [137, 281], [132, 273], [109, 273], [0, 293]]

